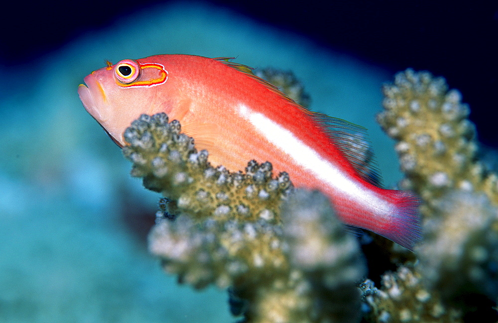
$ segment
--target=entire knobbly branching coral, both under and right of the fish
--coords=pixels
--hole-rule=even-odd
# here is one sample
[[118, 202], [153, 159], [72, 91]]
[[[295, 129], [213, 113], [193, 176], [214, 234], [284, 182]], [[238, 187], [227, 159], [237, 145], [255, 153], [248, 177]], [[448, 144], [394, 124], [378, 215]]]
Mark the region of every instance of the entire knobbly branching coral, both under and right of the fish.
[[182, 283], [228, 288], [232, 313], [247, 323], [358, 322], [362, 314], [366, 322], [463, 322], [475, 310], [466, 295], [491, 309], [498, 180], [477, 160], [469, 109], [427, 72], [400, 73], [383, 91], [378, 121], [398, 141], [401, 186], [421, 198], [424, 237], [417, 260], [395, 263], [378, 288], [370, 279], [358, 285], [366, 262], [323, 195], [293, 189], [286, 173], [273, 178], [268, 162], [250, 161], [245, 173], [212, 167], [163, 113], [142, 115], [124, 134], [132, 175], [169, 201], [150, 251]]

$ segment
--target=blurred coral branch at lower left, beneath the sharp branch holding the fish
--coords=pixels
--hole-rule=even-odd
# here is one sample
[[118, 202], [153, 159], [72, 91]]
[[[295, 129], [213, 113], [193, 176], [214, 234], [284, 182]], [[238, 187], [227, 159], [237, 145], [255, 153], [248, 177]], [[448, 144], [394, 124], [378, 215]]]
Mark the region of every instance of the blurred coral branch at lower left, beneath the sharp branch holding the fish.
[[264, 220], [195, 224], [188, 216], [159, 218], [149, 234], [149, 250], [162, 259], [166, 271], [196, 288], [227, 288], [239, 280], [252, 286], [288, 272], [280, 236], [279, 227]]

